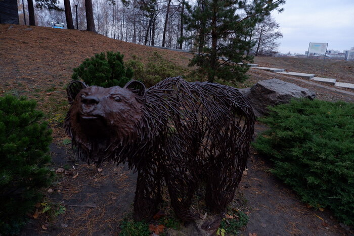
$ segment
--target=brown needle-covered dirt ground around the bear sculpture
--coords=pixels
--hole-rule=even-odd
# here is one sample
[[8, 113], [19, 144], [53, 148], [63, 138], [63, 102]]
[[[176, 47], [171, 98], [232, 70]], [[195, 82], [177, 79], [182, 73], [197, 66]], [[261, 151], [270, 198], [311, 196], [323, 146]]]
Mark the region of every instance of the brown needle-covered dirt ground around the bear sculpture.
[[[54, 136], [53, 168], [59, 178], [46, 195], [48, 201], [66, 209], [55, 218], [34, 213], [22, 235], [117, 235], [121, 221], [131, 212], [134, 171], [111, 163], [98, 169], [76, 160], [61, 126], [68, 109], [65, 85], [71, 80], [72, 69], [84, 59], [105, 51], [119, 51], [125, 55], [124, 59], [137, 55], [143, 61], [158, 52], [183, 67], [191, 58], [187, 53], [127, 43], [86, 31], [0, 24], [0, 96], [12, 93], [35, 99], [38, 108], [47, 114]], [[323, 68], [323, 61], [316, 59], [257, 57], [255, 63], [354, 83], [354, 62], [326, 60]], [[315, 91], [318, 99], [354, 101], [352, 90], [255, 69], [250, 69], [248, 74], [250, 79], [242, 86], [279, 78]], [[264, 128], [256, 124], [257, 132]], [[271, 163], [251, 152], [238, 193], [250, 218], [242, 235], [354, 234], [326, 209], [323, 212], [308, 209], [269, 173], [270, 168]], [[38, 207], [37, 212], [40, 210]], [[191, 225], [184, 226], [180, 235], [198, 235], [196, 231], [186, 230]]]

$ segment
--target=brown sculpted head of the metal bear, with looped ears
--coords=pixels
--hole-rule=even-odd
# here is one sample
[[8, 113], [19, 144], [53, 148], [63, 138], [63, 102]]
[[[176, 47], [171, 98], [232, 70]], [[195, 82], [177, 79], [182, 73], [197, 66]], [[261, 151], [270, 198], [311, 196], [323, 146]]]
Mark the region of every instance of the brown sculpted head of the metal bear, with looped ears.
[[145, 96], [145, 86], [139, 83], [123, 88], [84, 85], [76, 94], [68, 89], [69, 101], [74, 99], [65, 129], [83, 158], [101, 164], [138, 139]]

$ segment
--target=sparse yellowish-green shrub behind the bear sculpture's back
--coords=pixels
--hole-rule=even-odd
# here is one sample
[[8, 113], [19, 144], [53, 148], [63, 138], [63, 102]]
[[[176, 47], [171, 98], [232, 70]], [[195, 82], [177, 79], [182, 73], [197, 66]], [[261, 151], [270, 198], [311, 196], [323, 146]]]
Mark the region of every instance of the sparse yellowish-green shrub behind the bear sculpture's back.
[[132, 56], [132, 59], [128, 60], [126, 64], [134, 69], [134, 79], [142, 81], [147, 87], [151, 87], [165, 78], [185, 74], [182, 67], [174, 65], [156, 52], [148, 58], [146, 65], [137, 56]]

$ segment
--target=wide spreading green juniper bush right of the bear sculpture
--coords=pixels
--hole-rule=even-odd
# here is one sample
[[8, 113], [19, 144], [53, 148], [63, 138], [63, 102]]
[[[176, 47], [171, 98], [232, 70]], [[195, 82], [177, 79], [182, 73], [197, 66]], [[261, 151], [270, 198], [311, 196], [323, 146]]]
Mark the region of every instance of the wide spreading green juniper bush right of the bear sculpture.
[[270, 108], [253, 147], [302, 201], [354, 223], [354, 104], [300, 100]]

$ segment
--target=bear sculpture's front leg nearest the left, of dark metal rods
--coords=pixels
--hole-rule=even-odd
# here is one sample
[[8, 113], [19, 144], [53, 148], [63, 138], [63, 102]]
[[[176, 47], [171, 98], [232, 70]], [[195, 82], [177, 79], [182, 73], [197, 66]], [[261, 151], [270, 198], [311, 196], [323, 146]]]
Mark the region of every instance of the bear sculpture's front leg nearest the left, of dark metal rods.
[[137, 221], [151, 218], [161, 202], [162, 179], [160, 173], [148, 168], [138, 170], [137, 190], [134, 199], [134, 218]]

